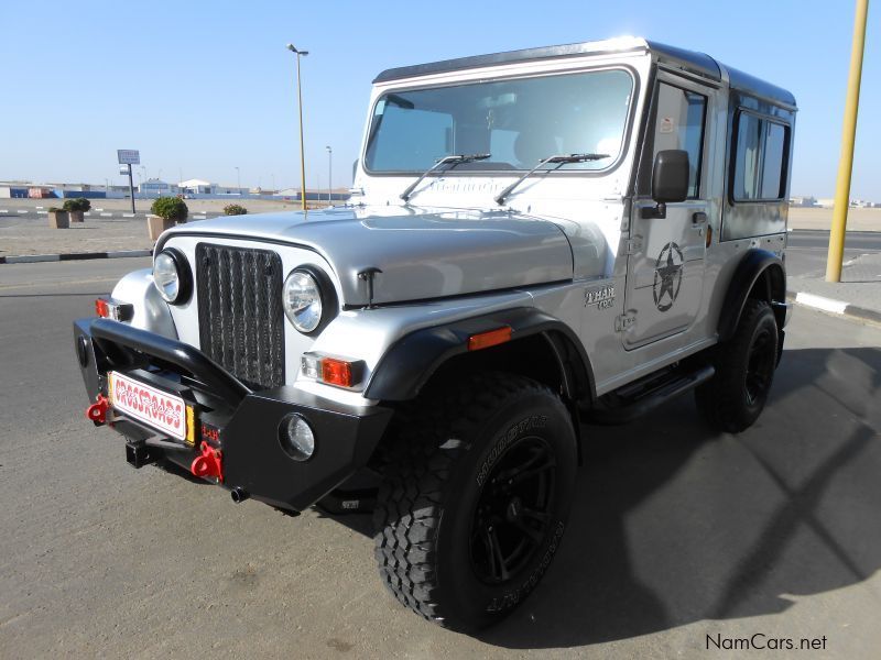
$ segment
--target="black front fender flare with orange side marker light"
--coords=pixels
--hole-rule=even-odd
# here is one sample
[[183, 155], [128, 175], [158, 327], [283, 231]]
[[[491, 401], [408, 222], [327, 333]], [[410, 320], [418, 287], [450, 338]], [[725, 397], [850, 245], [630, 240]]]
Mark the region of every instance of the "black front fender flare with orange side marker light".
[[[493, 311], [452, 323], [415, 330], [394, 342], [380, 360], [367, 384], [365, 396], [383, 402], [403, 402], [416, 397], [423, 385], [448, 360], [468, 352], [468, 338], [509, 326], [511, 341], [539, 336], [548, 343], [561, 371], [563, 388], [576, 397], [578, 374], [587, 381], [596, 397], [594, 372], [578, 337], [566, 323], [539, 309], [519, 307]], [[491, 349], [489, 349], [491, 350]]]

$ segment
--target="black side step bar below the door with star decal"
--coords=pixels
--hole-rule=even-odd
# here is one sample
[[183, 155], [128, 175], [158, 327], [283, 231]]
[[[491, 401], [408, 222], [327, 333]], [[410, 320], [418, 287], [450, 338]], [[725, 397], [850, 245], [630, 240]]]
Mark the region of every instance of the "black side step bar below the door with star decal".
[[618, 395], [614, 404], [607, 403], [594, 408], [585, 415], [585, 421], [600, 425], [626, 424], [637, 417], [642, 417], [661, 404], [706, 383], [715, 374], [716, 369], [711, 365], [706, 365], [685, 374], [673, 372], [665, 378], [649, 380], [642, 384], [637, 384], [635, 387], [626, 385], [621, 389], [611, 393], [612, 395]]

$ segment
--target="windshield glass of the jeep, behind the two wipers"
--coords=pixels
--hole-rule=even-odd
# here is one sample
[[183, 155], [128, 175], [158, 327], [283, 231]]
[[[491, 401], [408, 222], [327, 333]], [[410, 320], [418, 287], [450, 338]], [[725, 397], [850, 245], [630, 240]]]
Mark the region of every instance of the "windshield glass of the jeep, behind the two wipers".
[[492, 154], [456, 172], [532, 169], [554, 154], [608, 157], [566, 165], [605, 169], [618, 158], [633, 79], [624, 70], [472, 82], [383, 95], [368, 134], [369, 172], [422, 174], [453, 154]]

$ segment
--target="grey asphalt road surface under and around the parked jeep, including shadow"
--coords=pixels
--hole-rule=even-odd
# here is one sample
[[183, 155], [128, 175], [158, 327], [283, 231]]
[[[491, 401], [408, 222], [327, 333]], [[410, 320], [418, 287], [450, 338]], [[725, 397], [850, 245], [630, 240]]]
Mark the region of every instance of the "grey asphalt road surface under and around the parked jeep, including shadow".
[[135, 471], [84, 419], [70, 321], [145, 263], [0, 266], [0, 657], [705, 658], [707, 636], [755, 634], [878, 657], [881, 330], [797, 309], [770, 407], [737, 437], [689, 397], [586, 428], [546, 579], [468, 637], [385, 593], [362, 517]]

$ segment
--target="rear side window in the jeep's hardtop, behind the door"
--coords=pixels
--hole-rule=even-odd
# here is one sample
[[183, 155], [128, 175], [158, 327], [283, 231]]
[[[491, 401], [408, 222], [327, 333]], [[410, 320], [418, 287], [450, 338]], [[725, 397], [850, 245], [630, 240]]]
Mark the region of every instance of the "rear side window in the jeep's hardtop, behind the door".
[[782, 199], [790, 127], [740, 112], [735, 145], [735, 201]]

